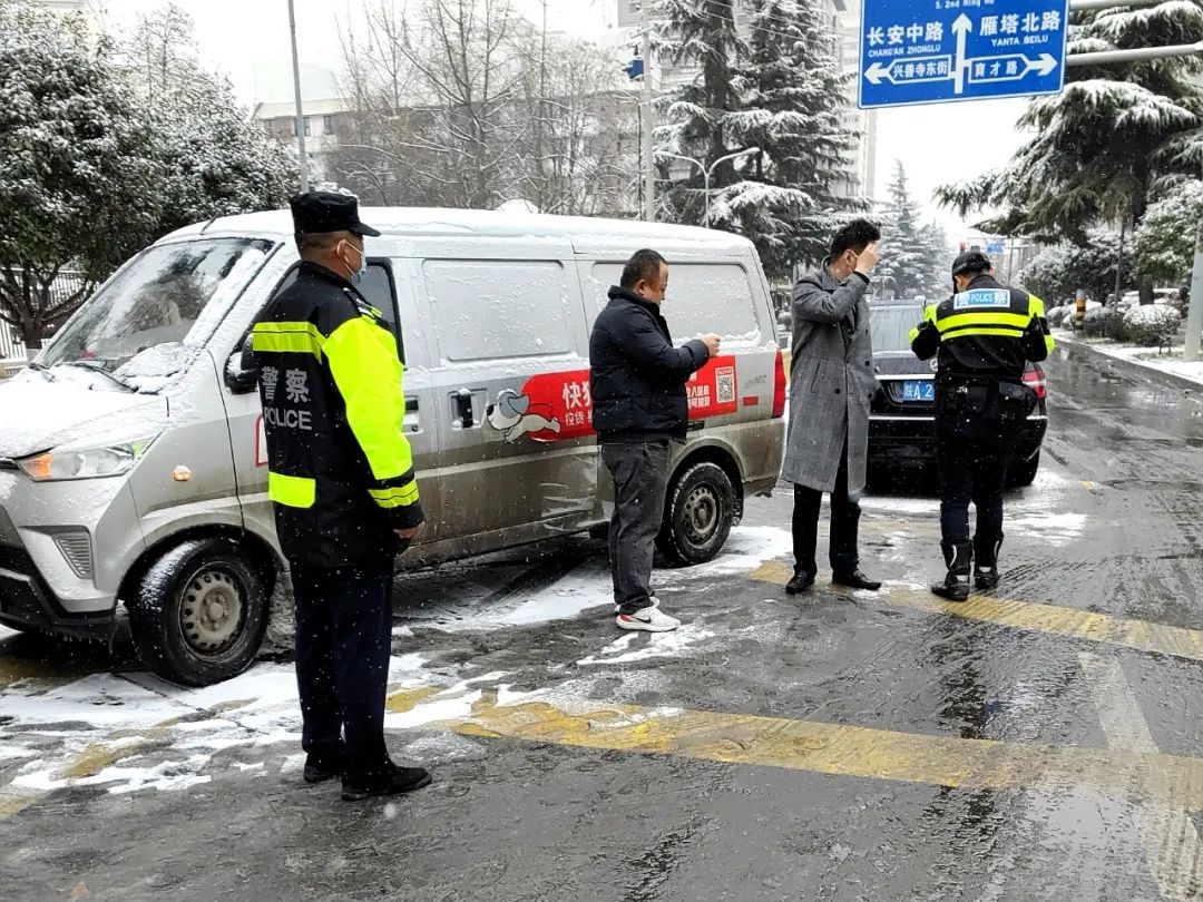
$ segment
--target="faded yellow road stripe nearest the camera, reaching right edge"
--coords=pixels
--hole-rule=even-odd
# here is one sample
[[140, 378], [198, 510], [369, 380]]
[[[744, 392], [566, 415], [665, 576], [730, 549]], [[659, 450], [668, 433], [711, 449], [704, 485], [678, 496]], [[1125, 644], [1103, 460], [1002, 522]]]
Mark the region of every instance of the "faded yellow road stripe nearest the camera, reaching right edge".
[[479, 701], [470, 717], [432, 724], [468, 736], [680, 755], [938, 787], [1095, 791], [1203, 809], [1203, 760], [1127, 749], [1025, 746], [709, 711], [617, 705], [565, 711]]

